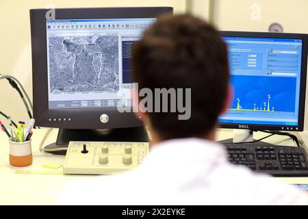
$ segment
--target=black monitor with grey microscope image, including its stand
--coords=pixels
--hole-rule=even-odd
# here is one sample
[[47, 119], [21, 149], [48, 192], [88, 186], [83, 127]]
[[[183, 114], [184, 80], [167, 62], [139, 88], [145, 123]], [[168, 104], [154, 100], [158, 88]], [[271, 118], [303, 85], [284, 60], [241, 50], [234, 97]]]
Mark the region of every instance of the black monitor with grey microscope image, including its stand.
[[[69, 140], [148, 140], [133, 112], [131, 48], [172, 8], [30, 10], [36, 125], [60, 128]], [[47, 19], [48, 18], [48, 19]], [[126, 92], [125, 92], [126, 91]]]

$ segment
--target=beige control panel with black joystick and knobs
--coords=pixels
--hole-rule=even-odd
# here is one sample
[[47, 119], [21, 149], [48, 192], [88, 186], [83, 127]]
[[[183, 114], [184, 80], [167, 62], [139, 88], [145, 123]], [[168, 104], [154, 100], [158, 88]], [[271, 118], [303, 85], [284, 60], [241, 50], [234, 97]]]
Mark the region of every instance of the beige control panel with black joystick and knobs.
[[111, 175], [131, 170], [149, 153], [149, 142], [70, 142], [64, 174]]

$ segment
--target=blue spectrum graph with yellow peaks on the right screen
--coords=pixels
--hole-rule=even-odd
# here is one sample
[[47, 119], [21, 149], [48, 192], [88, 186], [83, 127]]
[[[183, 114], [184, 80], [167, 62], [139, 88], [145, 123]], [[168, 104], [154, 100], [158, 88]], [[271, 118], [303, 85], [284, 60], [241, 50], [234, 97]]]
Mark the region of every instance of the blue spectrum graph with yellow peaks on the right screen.
[[234, 112], [294, 112], [296, 102], [295, 77], [264, 77], [232, 75]]

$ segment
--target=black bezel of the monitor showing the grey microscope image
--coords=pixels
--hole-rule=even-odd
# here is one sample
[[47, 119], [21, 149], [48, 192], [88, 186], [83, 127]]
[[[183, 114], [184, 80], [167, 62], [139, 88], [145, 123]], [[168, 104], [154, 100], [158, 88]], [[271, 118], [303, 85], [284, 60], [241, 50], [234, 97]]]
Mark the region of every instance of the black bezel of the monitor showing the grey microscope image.
[[[30, 10], [32, 82], [34, 118], [40, 127], [62, 129], [112, 129], [140, 127], [142, 121], [136, 114], [120, 113], [116, 107], [49, 109], [47, 73], [47, 27], [49, 9]], [[158, 18], [172, 14], [171, 7], [144, 8], [56, 8], [55, 19], [103, 19], [103, 18]], [[109, 116], [108, 123], [101, 123], [101, 114]], [[64, 120], [65, 118], [65, 120]]]

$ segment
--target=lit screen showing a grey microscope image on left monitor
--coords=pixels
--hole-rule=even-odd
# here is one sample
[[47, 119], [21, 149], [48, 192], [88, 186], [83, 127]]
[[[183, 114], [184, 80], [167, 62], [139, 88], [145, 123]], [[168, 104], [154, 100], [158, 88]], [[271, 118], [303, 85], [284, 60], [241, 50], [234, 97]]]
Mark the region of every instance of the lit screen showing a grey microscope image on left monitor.
[[131, 48], [156, 20], [47, 20], [49, 109], [131, 106]]

